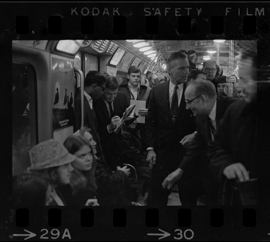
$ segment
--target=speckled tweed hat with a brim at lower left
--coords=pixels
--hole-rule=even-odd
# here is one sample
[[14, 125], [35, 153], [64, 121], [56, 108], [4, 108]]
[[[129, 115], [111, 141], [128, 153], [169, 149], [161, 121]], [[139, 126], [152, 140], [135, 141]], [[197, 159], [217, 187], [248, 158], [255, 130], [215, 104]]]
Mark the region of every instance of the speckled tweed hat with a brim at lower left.
[[49, 139], [34, 146], [30, 151], [31, 166], [27, 170], [40, 170], [68, 164], [77, 156], [72, 155], [61, 142]]

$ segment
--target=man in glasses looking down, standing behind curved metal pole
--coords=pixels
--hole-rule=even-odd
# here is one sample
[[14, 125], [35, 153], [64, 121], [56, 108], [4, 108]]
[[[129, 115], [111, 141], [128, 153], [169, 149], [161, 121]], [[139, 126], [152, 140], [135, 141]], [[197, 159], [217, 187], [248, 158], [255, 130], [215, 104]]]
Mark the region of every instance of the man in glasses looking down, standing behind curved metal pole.
[[[91, 129], [93, 139], [97, 142], [97, 156], [102, 156], [100, 139], [97, 132], [97, 120], [93, 109], [93, 100], [98, 99], [105, 90], [107, 78], [99, 71], [89, 71], [84, 80], [84, 125]], [[82, 110], [81, 110], [81, 93], [78, 88], [75, 94], [75, 124], [74, 132], [81, 128]]]

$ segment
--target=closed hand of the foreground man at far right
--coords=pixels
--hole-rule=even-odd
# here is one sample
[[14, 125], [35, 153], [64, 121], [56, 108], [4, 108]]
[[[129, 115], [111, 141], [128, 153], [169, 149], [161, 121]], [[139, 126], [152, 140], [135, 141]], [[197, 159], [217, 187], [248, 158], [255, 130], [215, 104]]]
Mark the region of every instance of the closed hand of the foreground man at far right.
[[247, 172], [246, 168], [241, 163], [234, 163], [232, 165], [228, 165], [223, 170], [223, 174], [228, 179], [234, 179], [237, 177], [239, 181], [249, 180], [249, 172]]

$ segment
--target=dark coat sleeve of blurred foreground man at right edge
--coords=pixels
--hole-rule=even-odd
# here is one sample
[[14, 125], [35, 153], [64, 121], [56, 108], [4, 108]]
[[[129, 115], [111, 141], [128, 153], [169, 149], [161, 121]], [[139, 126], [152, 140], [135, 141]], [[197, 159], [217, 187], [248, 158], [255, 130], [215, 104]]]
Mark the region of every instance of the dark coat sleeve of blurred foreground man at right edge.
[[224, 114], [214, 135], [214, 141], [208, 144], [208, 159], [210, 160], [210, 169], [215, 178], [222, 184], [225, 176], [223, 170], [233, 163], [230, 155], [231, 131], [230, 131], [230, 108]]

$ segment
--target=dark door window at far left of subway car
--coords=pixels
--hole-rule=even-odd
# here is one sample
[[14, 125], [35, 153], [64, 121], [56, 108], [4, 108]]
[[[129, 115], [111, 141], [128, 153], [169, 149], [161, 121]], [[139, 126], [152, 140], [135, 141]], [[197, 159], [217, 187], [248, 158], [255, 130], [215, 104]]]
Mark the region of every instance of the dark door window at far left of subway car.
[[35, 71], [27, 64], [12, 65], [13, 175], [30, 166], [28, 151], [36, 144]]

